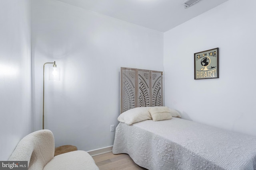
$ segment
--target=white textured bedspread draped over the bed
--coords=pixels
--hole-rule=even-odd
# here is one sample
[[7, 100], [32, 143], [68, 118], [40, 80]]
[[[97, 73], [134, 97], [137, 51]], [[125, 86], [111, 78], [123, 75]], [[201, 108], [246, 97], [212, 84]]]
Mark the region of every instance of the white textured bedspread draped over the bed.
[[119, 123], [113, 153], [149, 170], [256, 169], [256, 137], [176, 117]]

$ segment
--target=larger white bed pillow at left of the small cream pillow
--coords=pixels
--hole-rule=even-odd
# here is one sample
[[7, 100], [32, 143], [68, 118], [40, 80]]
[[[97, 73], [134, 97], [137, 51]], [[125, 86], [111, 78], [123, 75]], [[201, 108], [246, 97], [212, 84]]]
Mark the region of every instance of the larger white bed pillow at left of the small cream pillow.
[[148, 107], [135, 107], [121, 113], [117, 120], [127, 125], [132, 125], [139, 121], [152, 119]]

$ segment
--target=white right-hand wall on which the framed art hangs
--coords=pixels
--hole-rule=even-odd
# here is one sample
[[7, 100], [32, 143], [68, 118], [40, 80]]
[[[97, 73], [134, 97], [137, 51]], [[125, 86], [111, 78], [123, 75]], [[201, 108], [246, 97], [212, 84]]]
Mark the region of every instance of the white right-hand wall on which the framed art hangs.
[[[182, 117], [256, 135], [255, 0], [229, 0], [164, 33], [165, 104]], [[220, 78], [194, 80], [194, 53], [219, 47]]]

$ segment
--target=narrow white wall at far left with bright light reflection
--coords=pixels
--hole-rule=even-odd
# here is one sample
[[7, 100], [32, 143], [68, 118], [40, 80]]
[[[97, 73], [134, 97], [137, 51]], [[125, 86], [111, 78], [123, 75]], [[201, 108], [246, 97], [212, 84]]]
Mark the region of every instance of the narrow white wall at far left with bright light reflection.
[[0, 0], [0, 160], [31, 132], [30, 0]]

